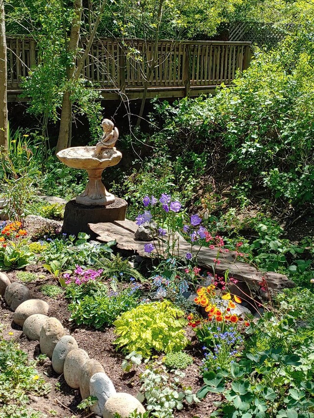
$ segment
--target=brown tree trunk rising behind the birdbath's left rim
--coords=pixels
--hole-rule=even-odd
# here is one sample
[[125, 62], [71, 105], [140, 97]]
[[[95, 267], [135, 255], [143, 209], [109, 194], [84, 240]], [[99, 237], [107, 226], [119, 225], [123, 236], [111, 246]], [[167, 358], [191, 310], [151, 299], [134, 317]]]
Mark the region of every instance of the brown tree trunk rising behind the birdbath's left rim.
[[[1, 0], [0, 0], [1, 1]], [[71, 65], [67, 67], [67, 80], [71, 81], [75, 72], [75, 62], [78, 54], [78, 40], [80, 31], [80, 22], [82, 16], [82, 0], [74, 0], [74, 18], [72, 21], [70, 41], [68, 45], [68, 53], [71, 56]], [[70, 84], [70, 83], [69, 83]], [[68, 148], [71, 138], [72, 126], [72, 103], [71, 103], [71, 88], [68, 88], [63, 93], [62, 98], [62, 110], [60, 119], [59, 137], [55, 152], [61, 151], [61, 149]]]

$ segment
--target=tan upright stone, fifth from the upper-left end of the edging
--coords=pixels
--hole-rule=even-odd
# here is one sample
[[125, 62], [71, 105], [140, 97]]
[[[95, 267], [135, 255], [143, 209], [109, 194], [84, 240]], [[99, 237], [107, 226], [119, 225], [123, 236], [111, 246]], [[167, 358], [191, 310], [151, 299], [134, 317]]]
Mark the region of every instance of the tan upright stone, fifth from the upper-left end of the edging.
[[64, 328], [56, 318], [48, 318], [41, 328], [39, 334], [40, 351], [52, 358], [55, 345], [65, 335]]

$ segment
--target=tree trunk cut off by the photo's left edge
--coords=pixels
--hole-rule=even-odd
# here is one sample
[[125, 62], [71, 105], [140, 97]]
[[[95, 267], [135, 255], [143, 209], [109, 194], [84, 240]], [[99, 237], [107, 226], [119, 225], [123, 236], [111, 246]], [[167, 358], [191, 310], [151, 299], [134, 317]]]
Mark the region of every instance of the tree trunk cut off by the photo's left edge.
[[8, 150], [8, 106], [7, 106], [6, 40], [4, 0], [0, 0], [0, 147]]

